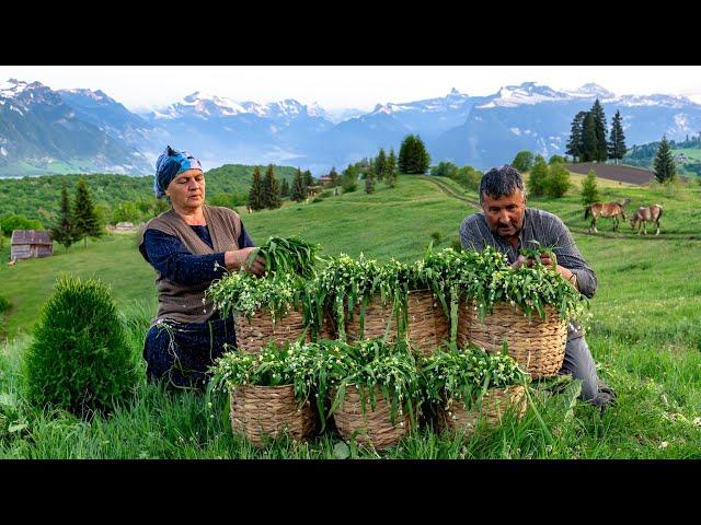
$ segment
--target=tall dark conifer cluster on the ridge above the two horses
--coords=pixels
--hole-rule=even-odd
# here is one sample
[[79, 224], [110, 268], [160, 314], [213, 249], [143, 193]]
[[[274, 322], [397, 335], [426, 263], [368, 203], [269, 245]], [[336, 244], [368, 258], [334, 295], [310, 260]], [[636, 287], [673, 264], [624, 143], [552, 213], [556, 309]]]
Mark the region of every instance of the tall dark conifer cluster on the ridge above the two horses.
[[574, 162], [605, 162], [612, 159], [618, 164], [627, 151], [621, 112], [616, 112], [608, 140], [606, 130], [604, 106], [597, 98], [591, 109], [577, 113], [572, 120], [566, 153], [572, 155]]

